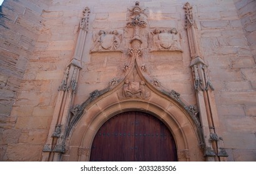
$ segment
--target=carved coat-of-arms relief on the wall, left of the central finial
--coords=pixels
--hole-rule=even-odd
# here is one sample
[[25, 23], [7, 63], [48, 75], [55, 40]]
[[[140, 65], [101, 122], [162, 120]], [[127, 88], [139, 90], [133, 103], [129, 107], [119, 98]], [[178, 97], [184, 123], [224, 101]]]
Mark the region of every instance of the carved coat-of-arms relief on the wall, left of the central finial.
[[119, 48], [123, 35], [120, 31], [99, 30], [93, 34], [93, 47], [91, 52], [122, 52]]

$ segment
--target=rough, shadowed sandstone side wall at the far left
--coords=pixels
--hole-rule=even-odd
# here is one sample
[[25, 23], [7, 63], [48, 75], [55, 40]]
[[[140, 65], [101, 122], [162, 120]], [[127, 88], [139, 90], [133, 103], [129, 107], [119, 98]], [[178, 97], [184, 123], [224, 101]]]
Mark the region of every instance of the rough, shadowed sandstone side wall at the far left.
[[[4, 1], [0, 7], [0, 160], [19, 158], [5, 156], [10, 149], [13, 150], [10, 153], [12, 155], [20, 153], [14, 149], [19, 149], [16, 144], [24, 135], [24, 131], [16, 128], [17, 116], [22, 113], [11, 116], [10, 113], [12, 109], [21, 107], [15, 106], [16, 95], [24, 90], [20, 87], [27, 64], [32, 57], [36, 57], [34, 48], [43, 27], [42, 10], [46, 8], [46, 2], [9, 0]], [[26, 160], [26, 157], [20, 157], [19, 160]]]

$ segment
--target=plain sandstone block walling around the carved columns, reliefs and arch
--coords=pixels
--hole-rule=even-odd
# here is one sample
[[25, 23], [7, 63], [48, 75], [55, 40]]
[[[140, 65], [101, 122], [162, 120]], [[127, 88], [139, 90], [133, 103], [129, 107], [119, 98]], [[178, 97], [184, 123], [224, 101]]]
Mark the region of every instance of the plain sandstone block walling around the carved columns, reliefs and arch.
[[[89, 53], [94, 32], [121, 30], [128, 47], [127, 7], [135, 1], [12, 1], [1, 7], [0, 160], [41, 160], [57, 89], [72, 59], [85, 6], [91, 9], [74, 104], [123, 75], [127, 53]], [[187, 104], [195, 104], [189, 45], [184, 29], [186, 1], [140, 1], [149, 9], [149, 29], [175, 27], [183, 53], [143, 55], [147, 73]], [[209, 64], [228, 160], [255, 159], [255, 1], [189, 1]], [[145, 43], [145, 45], [147, 45]], [[254, 57], [253, 57], [254, 56]], [[16, 98], [16, 99], [15, 99]], [[14, 102], [15, 100], [15, 102]]]

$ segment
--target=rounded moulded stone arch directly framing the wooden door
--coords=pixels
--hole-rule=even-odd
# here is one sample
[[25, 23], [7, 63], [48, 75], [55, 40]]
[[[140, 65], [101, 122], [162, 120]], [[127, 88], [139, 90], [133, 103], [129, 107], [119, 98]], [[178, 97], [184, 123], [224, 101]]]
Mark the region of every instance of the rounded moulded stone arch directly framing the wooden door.
[[117, 93], [101, 96], [84, 109], [84, 114], [66, 139], [64, 161], [89, 161], [91, 146], [99, 128], [113, 116], [126, 111], [152, 114], [168, 127], [177, 147], [178, 161], [204, 161], [197, 127], [189, 113], [176, 101], [152, 93], [149, 100], [120, 100]]

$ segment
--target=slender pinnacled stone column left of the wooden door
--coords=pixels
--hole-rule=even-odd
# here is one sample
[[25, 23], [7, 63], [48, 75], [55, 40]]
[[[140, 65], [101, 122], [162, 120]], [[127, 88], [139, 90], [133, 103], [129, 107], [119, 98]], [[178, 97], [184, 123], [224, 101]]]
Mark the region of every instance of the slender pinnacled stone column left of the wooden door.
[[90, 10], [86, 7], [79, 24], [79, 34], [74, 57], [64, 71], [64, 78], [59, 86], [56, 107], [52, 116], [49, 134], [44, 145], [42, 161], [59, 161], [65, 149], [66, 129], [69, 123], [69, 110], [74, 102], [79, 70], [81, 69], [82, 51], [86, 40]]

